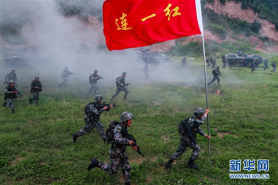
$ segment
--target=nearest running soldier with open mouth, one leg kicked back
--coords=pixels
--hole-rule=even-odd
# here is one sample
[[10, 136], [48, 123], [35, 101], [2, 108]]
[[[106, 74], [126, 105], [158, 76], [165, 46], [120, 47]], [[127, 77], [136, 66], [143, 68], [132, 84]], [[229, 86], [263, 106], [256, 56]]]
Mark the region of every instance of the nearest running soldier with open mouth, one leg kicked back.
[[[131, 112], [123, 112], [120, 116], [121, 122], [118, 122], [118, 125], [116, 125], [113, 130], [114, 140], [112, 141], [109, 150], [110, 164], [99, 162], [96, 158], [93, 158], [87, 168], [88, 171], [94, 167], [99, 167], [107, 173], [115, 175], [119, 171], [120, 166], [124, 175], [125, 185], [130, 185], [131, 167], [128, 162], [128, 155], [125, 152], [125, 148], [126, 146], [132, 146], [134, 142], [128, 140], [125, 132], [128, 133], [128, 127], [131, 126], [132, 119], [133, 115]], [[134, 146], [133, 149], [137, 150], [137, 146]]]

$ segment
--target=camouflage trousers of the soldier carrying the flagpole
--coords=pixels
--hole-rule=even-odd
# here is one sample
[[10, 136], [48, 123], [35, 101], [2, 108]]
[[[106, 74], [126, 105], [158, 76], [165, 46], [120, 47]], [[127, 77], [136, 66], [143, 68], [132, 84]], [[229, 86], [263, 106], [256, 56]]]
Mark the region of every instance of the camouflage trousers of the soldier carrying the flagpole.
[[181, 156], [183, 152], [187, 149], [187, 147], [192, 148], [193, 151], [191, 153], [190, 159], [195, 160], [201, 152], [201, 148], [198, 144], [196, 146], [191, 141], [190, 138], [182, 136], [180, 138], [179, 148], [178, 150], [172, 155], [171, 159], [174, 161], [176, 158]]

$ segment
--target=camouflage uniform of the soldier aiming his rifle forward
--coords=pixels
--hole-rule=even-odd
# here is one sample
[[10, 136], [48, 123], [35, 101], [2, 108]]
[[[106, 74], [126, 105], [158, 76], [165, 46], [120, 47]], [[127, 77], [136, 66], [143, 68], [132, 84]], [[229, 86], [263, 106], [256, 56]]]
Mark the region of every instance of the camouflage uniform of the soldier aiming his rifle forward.
[[108, 107], [108, 109], [106, 109], [106, 110], [103, 110], [103, 109], [100, 109], [100, 107], [98, 107], [98, 106], [96, 107], [95, 102], [93, 104], [91, 104], [91, 106], [90, 106], [91, 115], [84, 116], [86, 125], [84, 126], [83, 129], [79, 130], [79, 132], [77, 133], [78, 137], [90, 134], [92, 129], [96, 127], [97, 130], [99, 131], [99, 134], [103, 138], [103, 141], [106, 141], [103, 124], [102, 124], [102, 122], [99, 121], [99, 117], [100, 117], [100, 114], [103, 113], [103, 111], [109, 111], [109, 110], [110, 110], [110, 107]]

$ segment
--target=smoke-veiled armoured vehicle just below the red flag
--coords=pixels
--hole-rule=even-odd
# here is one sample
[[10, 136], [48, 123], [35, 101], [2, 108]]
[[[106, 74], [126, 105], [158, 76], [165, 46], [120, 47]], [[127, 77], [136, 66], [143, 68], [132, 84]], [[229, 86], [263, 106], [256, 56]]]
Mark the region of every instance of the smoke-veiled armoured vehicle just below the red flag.
[[140, 51], [141, 53], [138, 54], [138, 58], [140, 58], [147, 64], [151, 64], [151, 63], [159, 64], [161, 62], [167, 62], [170, 59], [170, 57], [166, 56], [163, 53], [157, 53], [157, 52], [148, 53], [150, 49], [141, 48]]

